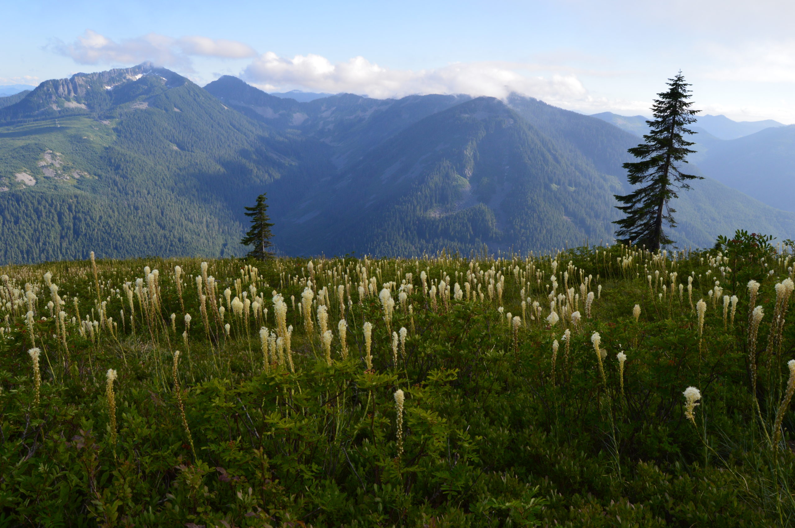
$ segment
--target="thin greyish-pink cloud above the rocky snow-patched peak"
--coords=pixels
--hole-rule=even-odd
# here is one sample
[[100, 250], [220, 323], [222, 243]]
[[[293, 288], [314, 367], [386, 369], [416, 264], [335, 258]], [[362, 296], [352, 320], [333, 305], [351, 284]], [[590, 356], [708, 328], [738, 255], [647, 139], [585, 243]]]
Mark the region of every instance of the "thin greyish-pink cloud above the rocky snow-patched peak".
[[235, 40], [208, 37], [174, 38], [157, 33], [112, 40], [91, 29], [71, 44], [56, 41], [52, 48], [78, 64], [137, 64], [144, 60], [161, 66], [188, 67], [191, 56], [240, 59], [256, 56], [254, 48]]

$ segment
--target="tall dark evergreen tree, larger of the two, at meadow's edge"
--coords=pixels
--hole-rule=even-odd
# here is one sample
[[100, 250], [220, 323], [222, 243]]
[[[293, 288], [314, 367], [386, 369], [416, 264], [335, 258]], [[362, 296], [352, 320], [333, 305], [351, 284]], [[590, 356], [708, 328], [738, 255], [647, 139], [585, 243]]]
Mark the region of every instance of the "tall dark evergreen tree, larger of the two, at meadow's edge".
[[696, 121], [693, 117], [700, 110], [690, 110], [692, 102], [688, 102], [690, 90], [684, 82], [680, 71], [673, 79], [668, 79], [669, 90], [657, 94], [652, 106], [654, 121], [646, 121], [650, 133], [643, 136], [646, 143], [630, 148], [633, 156], [641, 161], [625, 163], [627, 179], [632, 185], [642, 185], [629, 195], [615, 195], [622, 206], [626, 217], [613, 222], [619, 225], [616, 237], [625, 244], [646, 245], [655, 251], [661, 245], [673, 244], [673, 241], [662, 230], [665, 221], [670, 227], [676, 227], [673, 209], [669, 202], [678, 198], [677, 191], [689, 189], [688, 180], [703, 179], [682, 173], [681, 164], [687, 163], [688, 154], [696, 152], [688, 148], [694, 145], [684, 139], [683, 134], [692, 134], [692, 130], [684, 128]]

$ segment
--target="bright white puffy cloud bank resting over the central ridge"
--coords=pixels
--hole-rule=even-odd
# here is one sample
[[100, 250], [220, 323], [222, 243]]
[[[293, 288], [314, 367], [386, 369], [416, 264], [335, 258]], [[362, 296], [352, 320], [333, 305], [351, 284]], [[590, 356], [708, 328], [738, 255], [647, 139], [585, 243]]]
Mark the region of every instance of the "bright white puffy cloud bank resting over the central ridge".
[[374, 98], [409, 94], [471, 94], [504, 98], [511, 92], [548, 102], [586, 101], [588, 91], [576, 75], [529, 75], [530, 64], [506, 62], [456, 63], [425, 70], [394, 70], [363, 56], [333, 64], [319, 55], [292, 59], [267, 52], [255, 59], [243, 77], [262, 87], [351, 92]]

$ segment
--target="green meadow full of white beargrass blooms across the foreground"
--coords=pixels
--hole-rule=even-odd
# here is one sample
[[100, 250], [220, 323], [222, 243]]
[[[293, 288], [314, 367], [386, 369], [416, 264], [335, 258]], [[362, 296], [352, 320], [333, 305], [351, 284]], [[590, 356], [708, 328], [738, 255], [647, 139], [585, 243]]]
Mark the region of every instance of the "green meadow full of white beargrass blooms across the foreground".
[[719, 242], [6, 266], [0, 526], [793, 526], [791, 256]]

